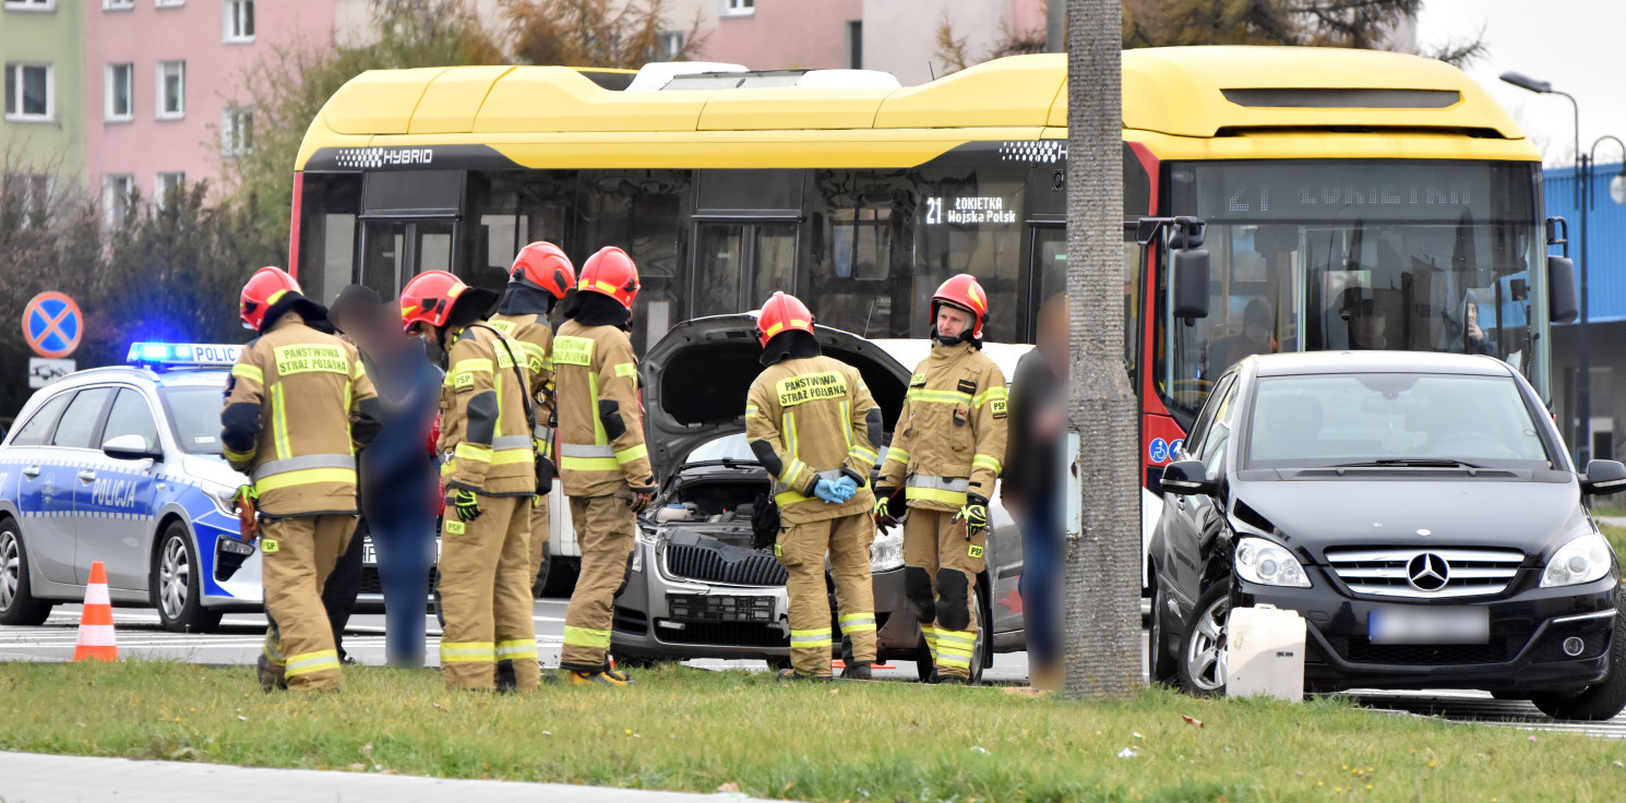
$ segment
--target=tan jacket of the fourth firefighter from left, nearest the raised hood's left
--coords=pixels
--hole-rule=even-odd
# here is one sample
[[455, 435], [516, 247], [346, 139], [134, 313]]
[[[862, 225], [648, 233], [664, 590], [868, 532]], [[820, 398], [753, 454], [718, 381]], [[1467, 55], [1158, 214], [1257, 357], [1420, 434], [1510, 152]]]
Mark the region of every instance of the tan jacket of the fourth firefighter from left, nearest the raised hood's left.
[[553, 338], [559, 476], [566, 496], [611, 496], [654, 486], [637, 358], [626, 332], [566, 320]]

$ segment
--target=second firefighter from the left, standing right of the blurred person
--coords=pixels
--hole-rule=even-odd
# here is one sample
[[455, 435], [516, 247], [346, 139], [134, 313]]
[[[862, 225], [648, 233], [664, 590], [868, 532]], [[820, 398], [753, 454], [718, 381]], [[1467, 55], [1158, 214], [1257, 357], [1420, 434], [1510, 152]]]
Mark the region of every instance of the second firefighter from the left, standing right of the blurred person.
[[444, 270], [402, 289], [402, 323], [447, 353], [441, 385], [441, 673], [454, 689], [540, 684], [530, 597], [537, 463], [525, 349], [485, 323], [496, 293]]

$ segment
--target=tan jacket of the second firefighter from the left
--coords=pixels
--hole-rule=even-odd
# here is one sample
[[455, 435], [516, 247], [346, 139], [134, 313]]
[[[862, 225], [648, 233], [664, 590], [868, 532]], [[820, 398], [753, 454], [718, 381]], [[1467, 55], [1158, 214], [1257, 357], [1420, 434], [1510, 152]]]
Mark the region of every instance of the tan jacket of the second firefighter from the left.
[[525, 421], [530, 385], [520, 343], [480, 323], [452, 338], [441, 385], [441, 478], [447, 486], [486, 496], [537, 493], [537, 452]]

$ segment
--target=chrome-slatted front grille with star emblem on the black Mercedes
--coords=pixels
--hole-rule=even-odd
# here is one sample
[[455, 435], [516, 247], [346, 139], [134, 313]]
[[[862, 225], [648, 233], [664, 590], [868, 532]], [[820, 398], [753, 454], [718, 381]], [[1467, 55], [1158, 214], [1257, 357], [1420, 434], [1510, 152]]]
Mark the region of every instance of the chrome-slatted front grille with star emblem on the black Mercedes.
[[1501, 593], [1524, 559], [1517, 549], [1327, 549], [1328, 567], [1353, 593], [1413, 600]]

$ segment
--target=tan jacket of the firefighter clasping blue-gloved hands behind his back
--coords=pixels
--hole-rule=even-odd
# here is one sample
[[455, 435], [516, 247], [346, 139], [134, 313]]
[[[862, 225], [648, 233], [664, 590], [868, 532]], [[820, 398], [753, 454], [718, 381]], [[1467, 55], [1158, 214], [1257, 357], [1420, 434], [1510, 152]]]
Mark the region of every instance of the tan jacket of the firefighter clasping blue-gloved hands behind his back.
[[[872, 410], [875, 411], [872, 415]], [[767, 366], [745, 402], [745, 439], [774, 476], [774, 501], [787, 523], [867, 514], [880, 408], [859, 369], [828, 356], [792, 358]], [[823, 480], [847, 468], [860, 484], [846, 504], [813, 496]]]

